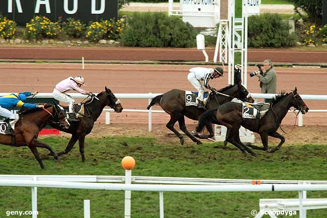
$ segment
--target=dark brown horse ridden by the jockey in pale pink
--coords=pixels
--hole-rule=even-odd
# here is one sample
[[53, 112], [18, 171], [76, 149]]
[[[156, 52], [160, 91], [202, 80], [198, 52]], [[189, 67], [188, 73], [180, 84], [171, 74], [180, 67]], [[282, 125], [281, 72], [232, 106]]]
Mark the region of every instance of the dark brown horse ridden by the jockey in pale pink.
[[[50, 125], [56, 129], [71, 134], [71, 138], [65, 151], [59, 152], [58, 156], [69, 153], [78, 140], [81, 159], [83, 162], [85, 162], [85, 136], [92, 131], [94, 122], [97, 121], [104, 107], [110, 106], [112, 109], [114, 109], [115, 112], [118, 113], [122, 112], [123, 107], [120, 103], [120, 100], [117, 99], [114, 93], [112, 93], [110, 89], [107, 89], [107, 87], [105, 87], [104, 92], [99, 93], [97, 96], [93, 95], [90, 100], [87, 100], [82, 104], [84, 105], [85, 113], [84, 117], [79, 118], [79, 122], [71, 122], [68, 129], [64, 129], [61, 126], [58, 126], [56, 123], [52, 123]], [[49, 155], [51, 155], [51, 153]]]

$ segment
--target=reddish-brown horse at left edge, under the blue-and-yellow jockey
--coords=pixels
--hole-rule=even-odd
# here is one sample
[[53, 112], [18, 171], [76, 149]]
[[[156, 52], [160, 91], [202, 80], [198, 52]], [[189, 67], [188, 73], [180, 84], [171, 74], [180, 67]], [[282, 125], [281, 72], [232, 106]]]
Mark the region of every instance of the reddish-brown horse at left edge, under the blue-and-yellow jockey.
[[50, 122], [55, 122], [63, 128], [69, 126], [66, 116], [57, 105], [46, 104], [44, 108], [21, 112], [20, 119], [15, 125], [15, 136], [0, 134], [0, 143], [15, 147], [27, 146], [39, 162], [40, 167], [44, 169], [37, 147], [47, 149], [55, 159], [58, 159], [58, 155], [48, 144], [37, 139], [39, 131]]

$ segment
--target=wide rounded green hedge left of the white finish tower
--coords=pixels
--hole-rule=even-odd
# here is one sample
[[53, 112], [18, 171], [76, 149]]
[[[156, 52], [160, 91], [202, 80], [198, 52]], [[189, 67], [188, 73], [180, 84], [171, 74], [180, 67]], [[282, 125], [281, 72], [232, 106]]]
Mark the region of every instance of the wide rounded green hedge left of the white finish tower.
[[194, 47], [196, 32], [189, 23], [165, 13], [133, 13], [121, 36], [125, 46]]

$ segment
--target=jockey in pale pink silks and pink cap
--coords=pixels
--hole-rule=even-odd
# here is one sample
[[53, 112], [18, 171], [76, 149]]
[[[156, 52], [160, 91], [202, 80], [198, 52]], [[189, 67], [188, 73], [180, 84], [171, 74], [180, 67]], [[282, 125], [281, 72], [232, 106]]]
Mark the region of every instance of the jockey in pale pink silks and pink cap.
[[54, 99], [58, 101], [62, 101], [64, 103], [68, 104], [68, 112], [69, 112], [69, 120], [70, 121], [79, 121], [76, 118], [75, 112], [74, 112], [74, 104], [75, 100], [70, 97], [69, 95], [65, 94], [65, 92], [70, 90], [75, 90], [76, 92], [84, 95], [90, 95], [91, 92], [85, 91], [84, 89], [81, 89], [80, 87], [84, 86], [84, 78], [81, 76], [77, 76], [75, 78], [68, 77], [67, 79], [59, 82], [52, 93], [52, 96]]

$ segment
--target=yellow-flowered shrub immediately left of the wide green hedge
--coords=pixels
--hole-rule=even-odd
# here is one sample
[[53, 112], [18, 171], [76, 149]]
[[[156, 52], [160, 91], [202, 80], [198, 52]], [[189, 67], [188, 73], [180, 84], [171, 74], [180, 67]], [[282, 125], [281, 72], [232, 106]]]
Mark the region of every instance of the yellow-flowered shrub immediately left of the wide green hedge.
[[116, 40], [120, 37], [125, 27], [124, 21], [121, 20], [101, 20], [100, 22], [91, 23], [86, 30], [86, 38], [92, 41], [100, 39]]

